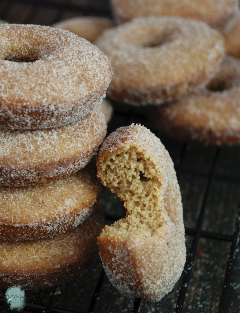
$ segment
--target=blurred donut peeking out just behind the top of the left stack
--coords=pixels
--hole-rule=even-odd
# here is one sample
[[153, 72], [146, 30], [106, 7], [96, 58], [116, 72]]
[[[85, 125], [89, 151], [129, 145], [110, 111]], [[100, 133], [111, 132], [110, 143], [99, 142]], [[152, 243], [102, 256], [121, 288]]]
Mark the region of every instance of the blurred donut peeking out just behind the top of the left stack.
[[102, 32], [114, 26], [110, 18], [98, 16], [78, 16], [57, 22], [52, 27], [69, 30], [93, 43]]

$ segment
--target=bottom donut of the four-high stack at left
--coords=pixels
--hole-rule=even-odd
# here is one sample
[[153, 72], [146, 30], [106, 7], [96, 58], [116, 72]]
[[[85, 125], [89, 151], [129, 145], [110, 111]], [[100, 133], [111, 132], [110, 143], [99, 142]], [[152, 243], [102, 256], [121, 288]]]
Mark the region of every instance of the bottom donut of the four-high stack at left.
[[45, 239], [0, 240], [0, 286], [42, 289], [76, 279], [97, 254], [104, 218], [96, 208], [78, 227]]

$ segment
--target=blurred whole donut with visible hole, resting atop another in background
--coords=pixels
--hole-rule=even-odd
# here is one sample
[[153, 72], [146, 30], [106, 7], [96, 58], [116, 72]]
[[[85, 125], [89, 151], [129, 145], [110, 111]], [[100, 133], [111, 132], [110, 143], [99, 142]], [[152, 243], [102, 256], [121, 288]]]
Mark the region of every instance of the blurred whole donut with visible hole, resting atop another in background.
[[219, 32], [173, 17], [133, 19], [105, 30], [95, 44], [114, 72], [107, 95], [132, 105], [189, 94], [213, 77], [224, 55]]

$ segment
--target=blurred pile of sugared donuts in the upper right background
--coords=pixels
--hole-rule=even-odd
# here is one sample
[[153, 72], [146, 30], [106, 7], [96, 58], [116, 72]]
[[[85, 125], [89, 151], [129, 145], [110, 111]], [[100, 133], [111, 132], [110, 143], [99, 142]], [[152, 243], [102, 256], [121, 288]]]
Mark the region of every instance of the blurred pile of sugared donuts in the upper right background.
[[226, 56], [239, 57], [238, 1], [112, 0], [111, 8], [118, 25], [95, 41], [113, 68], [107, 96], [141, 107], [171, 136], [239, 143], [240, 61]]

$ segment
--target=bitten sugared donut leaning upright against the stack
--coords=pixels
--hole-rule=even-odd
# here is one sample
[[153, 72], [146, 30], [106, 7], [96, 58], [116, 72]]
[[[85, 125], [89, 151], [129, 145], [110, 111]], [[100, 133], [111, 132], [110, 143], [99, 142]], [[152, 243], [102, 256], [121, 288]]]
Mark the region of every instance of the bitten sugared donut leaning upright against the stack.
[[97, 239], [106, 274], [123, 295], [159, 301], [179, 279], [186, 257], [172, 160], [159, 138], [132, 124], [106, 138], [97, 169], [127, 209]]

